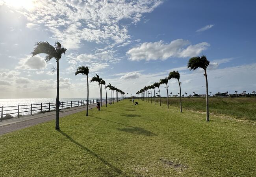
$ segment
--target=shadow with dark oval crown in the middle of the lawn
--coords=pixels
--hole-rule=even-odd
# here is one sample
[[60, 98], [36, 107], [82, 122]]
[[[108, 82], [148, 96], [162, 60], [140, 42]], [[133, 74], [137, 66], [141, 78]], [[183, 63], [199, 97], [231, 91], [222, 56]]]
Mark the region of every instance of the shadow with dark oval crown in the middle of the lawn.
[[97, 118], [97, 119], [101, 119], [101, 120], [106, 120], [108, 122], [113, 122], [115, 124], [120, 124], [120, 125], [124, 125], [126, 126], [126, 128], [117, 128], [118, 130], [120, 131], [126, 131], [128, 133], [133, 133], [133, 134], [136, 134], [136, 135], [146, 135], [146, 136], [158, 136], [157, 134], [151, 132], [151, 131], [148, 131], [148, 130], [145, 130], [141, 127], [133, 127], [133, 126], [129, 126], [129, 125], [125, 125], [125, 124], [121, 124], [119, 122], [115, 122], [115, 121], [112, 121], [112, 120], [107, 120], [107, 119], [103, 119], [103, 118], [98, 118], [98, 117], [95, 117], [95, 116], [91, 116], [91, 117], [94, 117], [94, 118]]

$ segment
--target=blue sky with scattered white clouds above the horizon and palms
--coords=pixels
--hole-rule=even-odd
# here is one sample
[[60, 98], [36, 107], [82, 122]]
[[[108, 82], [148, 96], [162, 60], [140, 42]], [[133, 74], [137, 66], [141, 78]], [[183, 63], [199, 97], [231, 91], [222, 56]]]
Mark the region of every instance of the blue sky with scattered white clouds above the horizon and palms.
[[[202, 70], [187, 69], [201, 55], [210, 61], [209, 92], [251, 93], [255, 7], [254, 0], [0, 0], [0, 98], [56, 97], [56, 59], [32, 57], [38, 41], [67, 48], [59, 61], [60, 98], [86, 97], [86, 77], [74, 75], [78, 66], [129, 96], [173, 70], [182, 94], [205, 94]], [[168, 85], [179, 92], [177, 80]], [[167, 96], [164, 85], [160, 90]], [[98, 92], [89, 83], [89, 97]]]

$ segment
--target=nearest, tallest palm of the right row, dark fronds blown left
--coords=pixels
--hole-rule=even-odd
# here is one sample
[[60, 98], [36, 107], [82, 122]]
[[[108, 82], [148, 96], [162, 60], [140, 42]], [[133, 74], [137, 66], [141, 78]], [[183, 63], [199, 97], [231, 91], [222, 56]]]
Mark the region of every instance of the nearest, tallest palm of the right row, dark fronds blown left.
[[197, 68], [202, 68], [204, 70], [204, 76], [206, 80], [206, 121], [209, 119], [209, 100], [208, 100], [208, 79], [206, 69], [209, 66], [210, 61], [207, 60], [207, 57], [202, 55], [201, 57], [192, 57], [187, 63], [187, 68], [189, 70], [196, 70]]

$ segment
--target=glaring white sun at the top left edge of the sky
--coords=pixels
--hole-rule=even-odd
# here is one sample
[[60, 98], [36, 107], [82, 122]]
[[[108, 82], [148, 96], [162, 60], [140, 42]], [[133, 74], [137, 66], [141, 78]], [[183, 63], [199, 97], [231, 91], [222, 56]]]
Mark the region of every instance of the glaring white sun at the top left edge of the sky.
[[33, 9], [35, 6], [35, 1], [34, 0], [3, 0], [4, 4], [7, 6], [20, 9], [24, 8], [27, 10]]

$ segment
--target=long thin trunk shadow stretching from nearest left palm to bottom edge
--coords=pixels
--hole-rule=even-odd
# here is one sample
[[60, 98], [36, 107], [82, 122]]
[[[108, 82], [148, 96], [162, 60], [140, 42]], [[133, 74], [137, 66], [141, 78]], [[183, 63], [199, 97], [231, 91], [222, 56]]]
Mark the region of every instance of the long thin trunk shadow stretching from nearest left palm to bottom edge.
[[[90, 149], [88, 149], [87, 147], [83, 146], [82, 144], [80, 144], [79, 142], [76, 142], [76, 140], [74, 140], [73, 138], [71, 138], [69, 135], [67, 135], [66, 133], [64, 133], [61, 130], [58, 130], [59, 133], [61, 133], [62, 135], [64, 135], [66, 138], [68, 138], [71, 142], [73, 142], [74, 144], [76, 144], [77, 146], [79, 146], [80, 148], [84, 149], [85, 151], [87, 151], [88, 153], [90, 153], [91, 155], [93, 155], [94, 157], [96, 157], [97, 159], [99, 159], [101, 162], [103, 162], [106, 166], [108, 166], [111, 170], [114, 171], [113, 174], [111, 174], [110, 176], [118, 176], [118, 175], [124, 175], [127, 176], [126, 174], [124, 174], [119, 168], [113, 166], [112, 164], [110, 164], [107, 160], [103, 159], [102, 157], [100, 157], [100, 155], [94, 153], [93, 151], [91, 151]], [[104, 169], [106, 170], [106, 169]], [[109, 173], [112, 173], [111, 171], [109, 171]]]

